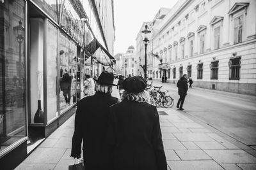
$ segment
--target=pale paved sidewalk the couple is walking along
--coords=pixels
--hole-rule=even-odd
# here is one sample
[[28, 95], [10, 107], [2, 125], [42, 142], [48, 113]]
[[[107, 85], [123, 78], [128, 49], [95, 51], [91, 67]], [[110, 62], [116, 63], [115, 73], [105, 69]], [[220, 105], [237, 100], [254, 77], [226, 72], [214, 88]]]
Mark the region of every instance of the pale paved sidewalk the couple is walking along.
[[[113, 96], [118, 96], [115, 89]], [[175, 108], [158, 108], [158, 111], [168, 168], [256, 169], [256, 157], [196, 123], [182, 111]], [[74, 164], [74, 159], [70, 158], [73, 132], [74, 115], [16, 169], [68, 169], [68, 165]]]

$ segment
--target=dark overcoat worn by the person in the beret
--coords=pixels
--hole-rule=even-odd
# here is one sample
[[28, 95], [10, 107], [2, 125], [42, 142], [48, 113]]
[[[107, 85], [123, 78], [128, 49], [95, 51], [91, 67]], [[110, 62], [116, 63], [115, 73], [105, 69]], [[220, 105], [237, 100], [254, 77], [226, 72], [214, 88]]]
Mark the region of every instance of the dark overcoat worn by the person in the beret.
[[107, 141], [115, 170], [166, 170], [156, 106], [127, 101], [110, 107]]

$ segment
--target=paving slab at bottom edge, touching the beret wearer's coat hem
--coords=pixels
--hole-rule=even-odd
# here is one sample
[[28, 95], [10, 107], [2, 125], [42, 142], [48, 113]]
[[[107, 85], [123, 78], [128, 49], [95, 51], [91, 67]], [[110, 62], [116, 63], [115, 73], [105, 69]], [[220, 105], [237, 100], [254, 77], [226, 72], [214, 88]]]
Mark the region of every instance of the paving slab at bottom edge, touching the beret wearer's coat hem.
[[223, 169], [214, 160], [169, 160], [168, 166], [172, 170], [218, 170]]

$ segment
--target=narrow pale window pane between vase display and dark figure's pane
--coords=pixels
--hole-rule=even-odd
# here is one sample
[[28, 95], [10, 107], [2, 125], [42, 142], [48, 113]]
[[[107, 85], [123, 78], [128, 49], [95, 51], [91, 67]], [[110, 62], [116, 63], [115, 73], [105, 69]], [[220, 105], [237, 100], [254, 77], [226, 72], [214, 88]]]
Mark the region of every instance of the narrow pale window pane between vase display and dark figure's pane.
[[57, 104], [57, 56], [58, 29], [47, 23], [47, 121], [58, 116]]

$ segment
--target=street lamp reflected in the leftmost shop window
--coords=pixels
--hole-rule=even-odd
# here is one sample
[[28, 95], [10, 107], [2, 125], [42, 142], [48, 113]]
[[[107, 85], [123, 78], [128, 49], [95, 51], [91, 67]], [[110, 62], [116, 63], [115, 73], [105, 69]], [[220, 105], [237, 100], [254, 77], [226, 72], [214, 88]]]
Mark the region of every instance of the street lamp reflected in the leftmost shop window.
[[25, 29], [22, 26], [21, 20], [19, 20], [19, 25], [17, 25], [16, 27], [13, 27], [13, 31], [15, 35], [17, 35], [16, 41], [19, 43], [19, 63], [17, 63], [17, 72], [19, 73], [20, 78], [22, 77], [21, 45], [22, 45], [22, 42], [24, 41], [24, 30]]

